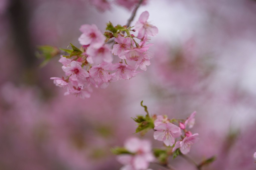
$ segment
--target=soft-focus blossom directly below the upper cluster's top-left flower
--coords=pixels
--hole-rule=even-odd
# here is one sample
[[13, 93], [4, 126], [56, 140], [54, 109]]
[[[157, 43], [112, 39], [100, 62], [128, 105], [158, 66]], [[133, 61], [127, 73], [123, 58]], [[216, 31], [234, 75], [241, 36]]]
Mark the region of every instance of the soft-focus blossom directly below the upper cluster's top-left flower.
[[107, 45], [103, 45], [99, 48], [90, 46], [87, 49], [87, 54], [89, 55], [87, 61], [91, 64], [100, 64], [102, 62], [111, 63], [113, 61], [113, 56]]

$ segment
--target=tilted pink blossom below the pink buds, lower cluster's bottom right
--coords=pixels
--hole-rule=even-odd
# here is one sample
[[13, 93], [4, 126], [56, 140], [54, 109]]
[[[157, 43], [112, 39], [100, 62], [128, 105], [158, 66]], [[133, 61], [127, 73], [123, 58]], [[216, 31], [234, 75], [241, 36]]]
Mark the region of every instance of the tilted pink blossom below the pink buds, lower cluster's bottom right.
[[191, 136], [186, 136], [182, 141], [177, 141], [173, 147], [173, 151], [177, 148], [180, 148], [180, 152], [187, 154], [190, 151], [190, 147], [198, 140], [198, 133], [195, 133]]

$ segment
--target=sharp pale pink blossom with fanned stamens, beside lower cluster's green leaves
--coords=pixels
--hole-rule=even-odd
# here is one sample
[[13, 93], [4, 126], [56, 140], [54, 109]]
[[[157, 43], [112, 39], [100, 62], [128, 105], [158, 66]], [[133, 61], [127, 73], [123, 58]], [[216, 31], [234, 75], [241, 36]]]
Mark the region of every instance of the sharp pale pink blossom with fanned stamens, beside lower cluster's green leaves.
[[173, 123], [161, 123], [154, 129], [154, 138], [163, 141], [166, 146], [172, 146], [175, 138], [182, 135], [181, 129]]

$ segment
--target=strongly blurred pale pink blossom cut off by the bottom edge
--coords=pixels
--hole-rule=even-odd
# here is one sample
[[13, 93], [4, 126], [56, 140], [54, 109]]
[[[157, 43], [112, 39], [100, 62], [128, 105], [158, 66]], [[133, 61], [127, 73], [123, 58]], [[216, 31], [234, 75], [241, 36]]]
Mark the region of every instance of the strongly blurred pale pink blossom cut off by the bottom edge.
[[121, 154], [117, 157], [117, 160], [124, 165], [121, 170], [144, 170], [155, 160], [148, 140], [130, 138], [125, 142], [124, 147], [133, 155]]

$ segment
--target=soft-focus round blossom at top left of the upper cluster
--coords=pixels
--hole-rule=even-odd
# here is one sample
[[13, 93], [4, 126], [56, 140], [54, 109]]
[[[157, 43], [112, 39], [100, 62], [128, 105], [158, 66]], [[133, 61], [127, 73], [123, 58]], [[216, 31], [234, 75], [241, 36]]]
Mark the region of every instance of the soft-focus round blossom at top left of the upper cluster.
[[94, 47], [99, 48], [104, 44], [105, 37], [100, 32], [95, 24], [84, 24], [79, 29], [83, 34], [78, 38], [81, 45], [93, 44]]

